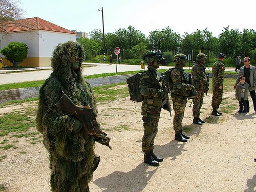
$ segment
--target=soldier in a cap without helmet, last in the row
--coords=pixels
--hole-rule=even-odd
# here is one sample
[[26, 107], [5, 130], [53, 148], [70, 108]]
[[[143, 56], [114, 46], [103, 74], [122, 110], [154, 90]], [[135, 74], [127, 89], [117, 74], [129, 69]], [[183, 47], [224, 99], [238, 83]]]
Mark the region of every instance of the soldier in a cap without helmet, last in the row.
[[225, 55], [220, 53], [218, 55], [218, 61], [212, 66], [212, 112], [211, 115], [220, 116], [221, 112], [217, 111], [220, 108], [223, 95], [223, 81], [225, 67], [222, 61], [225, 59]]

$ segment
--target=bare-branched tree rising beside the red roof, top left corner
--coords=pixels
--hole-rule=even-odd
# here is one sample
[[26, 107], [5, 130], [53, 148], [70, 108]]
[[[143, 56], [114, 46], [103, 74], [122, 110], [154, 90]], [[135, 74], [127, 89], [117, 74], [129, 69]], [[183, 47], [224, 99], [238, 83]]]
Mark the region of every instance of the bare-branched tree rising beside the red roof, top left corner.
[[23, 18], [25, 11], [18, 6], [20, 0], [1, 0], [0, 1], [0, 26], [4, 31], [5, 23], [10, 20]]

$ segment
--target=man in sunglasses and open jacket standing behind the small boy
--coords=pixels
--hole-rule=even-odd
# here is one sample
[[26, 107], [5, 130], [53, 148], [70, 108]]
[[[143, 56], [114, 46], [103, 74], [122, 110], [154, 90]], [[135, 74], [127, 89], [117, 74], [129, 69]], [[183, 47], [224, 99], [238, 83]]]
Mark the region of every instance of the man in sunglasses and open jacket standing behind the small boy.
[[[256, 96], [255, 96], [255, 89], [256, 89], [256, 68], [252, 65], [250, 65], [251, 59], [250, 57], [245, 57], [244, 58], [244, 66], [240, 68], [238, 72], [238, 78], [236, 83], [234, 83], [234, 89], [236, 89], [237, 84], [239, 83], [240, 79], [239, 77], [241, 75], [245, 76], [245, 82], [247, 82], [250, 85], [250, 96], [253, 102], [253, 108], [254, 111], [256, 112]], [[250, 106], [249, 106], [249, 100], [247, 102], [247, 113], [250, 111]]]

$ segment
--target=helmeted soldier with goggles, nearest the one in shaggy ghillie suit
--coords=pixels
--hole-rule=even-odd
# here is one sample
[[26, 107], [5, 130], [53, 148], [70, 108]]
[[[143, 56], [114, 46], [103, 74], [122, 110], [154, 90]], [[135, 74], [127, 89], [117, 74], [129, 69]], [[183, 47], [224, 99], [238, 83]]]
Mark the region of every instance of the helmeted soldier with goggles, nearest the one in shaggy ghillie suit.
[[157, 157], [153, 150], [154, 140], [158, 132], [158, 121], [162, 108], [162, 100], [165, 98], [165, 92], [159, 83], [159, 76], [156, 69], [160, 62], [164, 60], [161, 51], [150, 50], [143, 58], [147, 62], [147, 71], [140, 78], [140, 93], [144, 101], [141, 105], [141, 115], [144, 126], [144, 135], [142, 137], [142, 151], [144, 152], [144, 163], [152, 166], [159, 166], [163, 158]]

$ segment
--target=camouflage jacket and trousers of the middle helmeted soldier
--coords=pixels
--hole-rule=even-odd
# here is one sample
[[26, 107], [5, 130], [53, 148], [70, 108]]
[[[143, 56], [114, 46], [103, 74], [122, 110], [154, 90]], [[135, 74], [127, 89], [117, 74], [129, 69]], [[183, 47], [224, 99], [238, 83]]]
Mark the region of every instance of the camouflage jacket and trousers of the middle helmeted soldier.
[[175, 66], [175, 69], [170, 74], [173, 81], [173, 90], [171, 93], [173, 108], [174, 108], [174, 130], [182, 130], [182, 119], [184, 117], [184, 111], [187, 103], [187, 96], [190, 94], [191, 90], [194, 91], [194, 86], [188, 84], [186, 73], [182, 67], [179, 65]]

